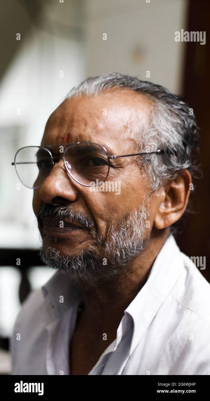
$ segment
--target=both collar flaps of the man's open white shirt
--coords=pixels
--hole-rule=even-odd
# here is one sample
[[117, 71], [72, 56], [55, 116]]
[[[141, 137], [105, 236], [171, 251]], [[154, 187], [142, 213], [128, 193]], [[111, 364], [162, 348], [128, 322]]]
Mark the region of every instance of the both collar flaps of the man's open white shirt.
[[[172, 235], [168, 237], [157, 255], [151, 268], [147, 282], [137, 296], [124, 311], [123, 319], [117, 329], [117, 337], [113, 342], [113, 350], [119, 344], [121, 337], [133, 321], [133, 337], [129, 354], [131, 354], [157, 314], [160, 306], [172, 290], [182, 273], [183, 261], [180, 249]], [[79, 284], [74, 277], [69, 277], [63, 271], [57, 271], [50, 280], [42, 286], [45, 304], [50, 312], [48, 324], [71, 307], [76, 307], [82, 300]], [[61, 301], [63, 296], [63, 302]]]

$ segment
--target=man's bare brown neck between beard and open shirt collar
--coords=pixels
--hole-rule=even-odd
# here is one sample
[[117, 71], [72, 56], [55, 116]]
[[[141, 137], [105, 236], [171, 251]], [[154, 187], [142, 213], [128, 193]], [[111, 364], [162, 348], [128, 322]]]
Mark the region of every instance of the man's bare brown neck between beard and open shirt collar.
[[167, 237], [168, 233], [164, 233], [161, 238], [152, 236], [147, 248], [127, 264], [120, 276], [100, 282], [97, 287], [79, 279], [84, 300], [82, 318], [90, 330], [117, 330], [124, 310], [147, 281], [155, 258]]

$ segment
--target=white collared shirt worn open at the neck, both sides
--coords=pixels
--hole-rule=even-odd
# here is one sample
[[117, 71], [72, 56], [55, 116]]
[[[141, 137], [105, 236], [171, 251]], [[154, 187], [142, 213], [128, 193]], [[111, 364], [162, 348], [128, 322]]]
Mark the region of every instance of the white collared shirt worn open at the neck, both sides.
[[[81, 300], [60, 271], [28, 296], [10, 342], [12, 375], [69, 375]], [[172, 235], [89, 375], [210, 375], [210, 284]]]

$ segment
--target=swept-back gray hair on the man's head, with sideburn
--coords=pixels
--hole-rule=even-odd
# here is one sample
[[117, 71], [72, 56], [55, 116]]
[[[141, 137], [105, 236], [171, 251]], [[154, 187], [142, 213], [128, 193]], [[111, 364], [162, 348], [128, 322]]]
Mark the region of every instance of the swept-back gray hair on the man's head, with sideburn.
[[183, 169], [189, 170], [191, 176], [194, 176], [194, 172], [199, 170], [194, 157], [194, 150], [198, 150], [198, 127], [193, 109], [181, 96], [136, 77], [109, 73], [85, 79], [73, 87], [67, 98], [96, 96], [115, 88], [131, 89], [151, 100], [149, 126], [137, 138], [137, 152], [148, 147], [150, 151], [157, 148], [164, 150], [160, 154], [148, 154], [143, 158], [143, 169], [149, 176], [151, 190], [157, 190], [167, 179], [175, 178]]

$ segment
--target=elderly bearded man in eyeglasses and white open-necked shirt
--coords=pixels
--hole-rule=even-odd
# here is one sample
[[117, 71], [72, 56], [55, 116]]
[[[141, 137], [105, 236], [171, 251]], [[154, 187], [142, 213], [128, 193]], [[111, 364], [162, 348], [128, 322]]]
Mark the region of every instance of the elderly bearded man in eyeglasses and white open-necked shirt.
[[88, 78], [41, 146], [16, 153], [57, 271], [17, 317], [14, 375], [210, 374], [210, 285], [172, 235], [192, 189], [191, 114], [159, 85]]

